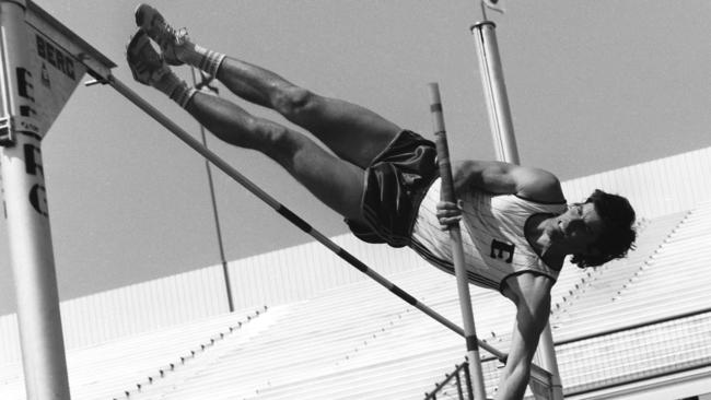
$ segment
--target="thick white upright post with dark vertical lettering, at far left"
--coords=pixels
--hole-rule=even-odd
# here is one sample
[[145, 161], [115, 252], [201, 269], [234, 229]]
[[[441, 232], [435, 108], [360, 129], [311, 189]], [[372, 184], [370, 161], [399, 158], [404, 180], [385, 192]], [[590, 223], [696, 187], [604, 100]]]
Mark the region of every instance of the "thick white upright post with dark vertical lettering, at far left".
[[26, 5], [24, 0], [0, 0], [2, 189], [27, 399], [68, 400]]

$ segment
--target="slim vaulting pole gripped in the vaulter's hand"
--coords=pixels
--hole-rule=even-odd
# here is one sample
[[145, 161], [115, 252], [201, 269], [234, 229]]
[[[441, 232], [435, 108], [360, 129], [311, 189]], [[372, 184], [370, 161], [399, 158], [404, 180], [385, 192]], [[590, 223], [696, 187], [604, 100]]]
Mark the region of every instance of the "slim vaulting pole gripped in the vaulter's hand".
[[[442, 113], [442, 99], [440, 98], [440, 86], [436, 83], [430, 83], [430, 110], [432, 111], [432, 123], [434, 126], [434, 137], [436, 138], [438, 163], [440, 165], [440, 178], [442, 179], [441, 196], [443, 201], [456, 202], [454, 196], [454, 183], [452, 179], [452, 167], [450, 163], [450, 150], [447, 146], [446, 131], [444, 129], [444, 116]], [[448, 226], [452, 242], [452, 256], [454, 259], [454, 274], [457, 281], [457, 292], [459, 294], [459, 308], [464, 325], [464, 339], [467, 344], [467, 358], [471, 365], [471, 375], [474, 379], [475, 399], [486, 399], [487, 390], [483, 386], [483, 372], [481, 369], [481, 358], [479, 357], [479, 345], [477, 340], [477, 330], [474, 323], [474, 313], [471, 310], [471, 296], [469, 294], [469, 280], [464, 261], [464, 249], [462, 247], [462, 232], [459, 224]]]

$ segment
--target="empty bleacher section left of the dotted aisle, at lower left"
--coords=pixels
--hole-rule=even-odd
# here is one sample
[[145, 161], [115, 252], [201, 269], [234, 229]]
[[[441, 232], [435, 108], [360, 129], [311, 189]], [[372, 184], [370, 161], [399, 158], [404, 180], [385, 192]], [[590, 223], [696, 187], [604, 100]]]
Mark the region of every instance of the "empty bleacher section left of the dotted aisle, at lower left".
[[[72, 350], [67, 353], [72, 399], [125, 397], [137, 385], [189, 365], [231, 334], [245, 338], [268, 329], [264, 315], [237, 311]], [[0, 398], [25, 398], [20, 363], [0, 366]]]

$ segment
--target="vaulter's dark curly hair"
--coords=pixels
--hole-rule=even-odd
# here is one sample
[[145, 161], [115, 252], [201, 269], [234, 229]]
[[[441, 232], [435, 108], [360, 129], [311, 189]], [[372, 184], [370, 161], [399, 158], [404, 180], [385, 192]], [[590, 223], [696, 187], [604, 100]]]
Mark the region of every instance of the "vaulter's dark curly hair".
[[596, 189], [585, 203], [594, 204], [595, 211], [603, 219], [604, 228], [599, 238], [590, 246], [588, 254], [573, 255], [570, 261], [579, 268], [598, 267], [627, 256], [627, 251], [634, 248], [637, 238], [634, 209], [630, 202], [621, 196]]

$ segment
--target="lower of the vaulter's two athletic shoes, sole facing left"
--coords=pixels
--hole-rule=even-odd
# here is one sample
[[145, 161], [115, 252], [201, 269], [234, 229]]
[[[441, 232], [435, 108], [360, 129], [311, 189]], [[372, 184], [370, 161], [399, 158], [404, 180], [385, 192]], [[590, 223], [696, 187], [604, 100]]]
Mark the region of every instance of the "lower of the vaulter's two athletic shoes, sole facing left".
[[133, 79], [142, 84], [154, 85], [163, 75], [171, 72], [170, 67], [158, 54], [144, 31], [139, 30], [126, 47], [126, 60]]

